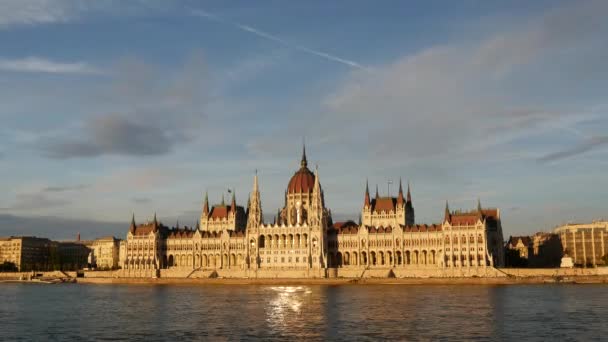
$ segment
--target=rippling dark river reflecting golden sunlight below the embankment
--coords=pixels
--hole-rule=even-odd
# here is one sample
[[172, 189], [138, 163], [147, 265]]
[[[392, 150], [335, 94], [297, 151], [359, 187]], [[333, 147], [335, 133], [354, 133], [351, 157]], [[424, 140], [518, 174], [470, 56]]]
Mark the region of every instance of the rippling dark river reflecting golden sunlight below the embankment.
[[608, 338], [608, 286], [0, 284], [0, 340]]

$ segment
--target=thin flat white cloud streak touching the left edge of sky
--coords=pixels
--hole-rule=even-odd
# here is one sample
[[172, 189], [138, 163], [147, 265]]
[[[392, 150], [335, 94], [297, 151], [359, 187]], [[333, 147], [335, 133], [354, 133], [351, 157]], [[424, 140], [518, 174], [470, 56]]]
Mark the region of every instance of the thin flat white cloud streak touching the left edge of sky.
[[49, 74], [103, 74], [102, 70], [85, 62], [65, 63], [40, 57], [25, 57], [21, 59], [0, 58], [0, 71]]

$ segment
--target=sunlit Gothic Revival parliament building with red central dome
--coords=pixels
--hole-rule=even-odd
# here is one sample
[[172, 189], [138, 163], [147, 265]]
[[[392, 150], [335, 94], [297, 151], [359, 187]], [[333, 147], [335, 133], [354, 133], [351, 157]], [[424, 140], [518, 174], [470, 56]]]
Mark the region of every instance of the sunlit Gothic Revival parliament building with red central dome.
[[305, 149], [272, 224], [263, 220], [259, 187], [256, 173], [246, 208], [237, 205], [234, 192], [229, 204], [222, 199], [211, 207], [205, 195], [196, 227], [168, 227], [156, 215], [137, 224], [133, 216], [121, 243], [121, 272], [130, 277], [433, 276], [485, 274], [504, 264], [500, 211], [479, 202], [467, 212], [450, 211], [446, 202], [441, 223], [418, 224], [409, 185], [404, 194], [400, 181], [397, 197], [381, 197], [377, 188], [372, 197], [366, 186], [359, 223], [334, 222]]

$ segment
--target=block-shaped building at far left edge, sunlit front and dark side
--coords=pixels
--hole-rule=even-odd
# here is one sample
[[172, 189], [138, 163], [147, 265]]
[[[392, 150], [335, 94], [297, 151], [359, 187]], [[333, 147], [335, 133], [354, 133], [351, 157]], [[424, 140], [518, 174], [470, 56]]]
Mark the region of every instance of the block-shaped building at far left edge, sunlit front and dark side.
[[15, 264], [19, 271], [51, 269], [53, 241], [33, 236], [0, 238], [0, 263]]

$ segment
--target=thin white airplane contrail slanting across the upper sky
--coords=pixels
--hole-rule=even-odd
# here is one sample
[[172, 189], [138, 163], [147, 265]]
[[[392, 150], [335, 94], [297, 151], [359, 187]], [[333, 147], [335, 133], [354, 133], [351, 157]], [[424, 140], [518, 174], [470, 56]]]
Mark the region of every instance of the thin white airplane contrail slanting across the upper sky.
[[223, 23], [223, 24], [228, 24], [228, 25], [234, 26], [235, 28], [237, 28], [237, 29], [239, 29], [241, 31], [244, 31], [244, 32], [247, 32], [247, 33], [251, 33], [251, 34], [256, 35], [258, 37], [261, 37], [261, 38], [264, 38], [264, 39], [271, 40], [273, 42], [279, 43], [279, 44], [281, 44], [281, 45], [283, 45], [285, 47], [292, 48], [292, 49], [299, 50], [299, 51], [303, 51], [303, 52], [309, 53], [311, 55], [327, 59], [327, 60], [332, 61], [332, 62], [337, 62], [337, 63], [340, 63], [340, 64], [344, 64], [344, 65], [349, 66], [351, 68], [362, 69], [362, 70], [369, 70], [369, 68], [367, 68], [364, 65], [361, 65], [361, 64], [359, 64], [359, 63], [357, 63], [355, 61], [352, 61], [352, 60], [349, 60], [349, 59], [340, 58], [338, 56], [331, 55], [331, 54], [323, 52], [323, 51], [314, 50], [314, 49], [308, 48], [308, 47], [303, 46], [303, 45], [293, 44], [293, 43], [290, 43], [290, 42], [288, 42], [288, 41], [286, 41], [284, 39], [281, 39], [281, 38], [279, 38], [279, 37], [277, 37], [275, 35], [272, 35], [272, 34], [270, 34], [268, 32], [264, 32], [262, 30], [259, 30], [259, 29], [255, 28], [255, 27], [251, 27], [251, 26], [244, 25], [244, 24], [241, 24], [241, 23], [229, 21], [229, 20], [223, 19], [221, 17], [218, 17], [217, 15], [214, 15], [214, 14], [202, 11], [202, 10], [193, 10], [192, 14], [193, 15], [197, 15], [197, 16], [201, 16], [201, 17], [205, 17], [205, 18], [208, 18], [208, 19], [211, 19], [213, 21], [217, 21], [217, 22], [220, 22], [220, 23]]

